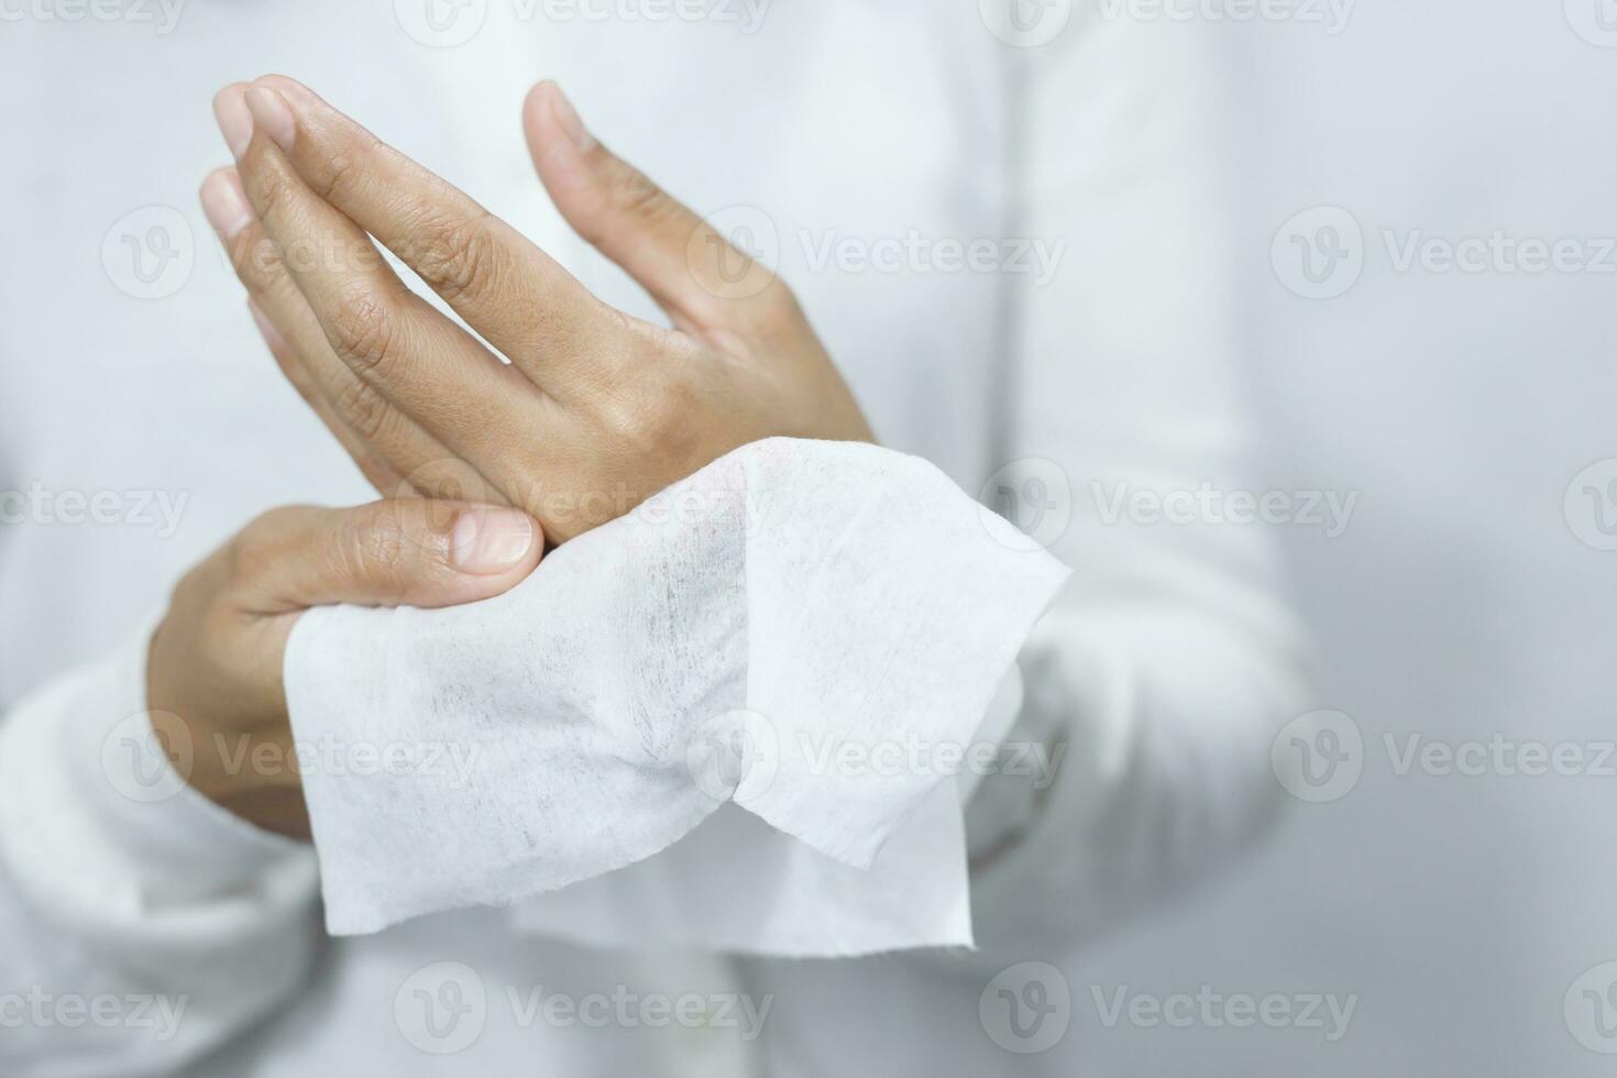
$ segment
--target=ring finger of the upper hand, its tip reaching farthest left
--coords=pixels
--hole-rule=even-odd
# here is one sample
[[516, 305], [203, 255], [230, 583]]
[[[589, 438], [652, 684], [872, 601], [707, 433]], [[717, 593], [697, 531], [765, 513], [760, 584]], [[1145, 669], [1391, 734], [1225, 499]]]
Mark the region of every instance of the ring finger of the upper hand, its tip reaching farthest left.
[[480, 475], [471, 482], [475, 469], [336, 357], [254, 217], [234, 168], [209, 175], [202, 208], [247, 289], [254, 322], [275, 362], [378, 493], [506, 504]]

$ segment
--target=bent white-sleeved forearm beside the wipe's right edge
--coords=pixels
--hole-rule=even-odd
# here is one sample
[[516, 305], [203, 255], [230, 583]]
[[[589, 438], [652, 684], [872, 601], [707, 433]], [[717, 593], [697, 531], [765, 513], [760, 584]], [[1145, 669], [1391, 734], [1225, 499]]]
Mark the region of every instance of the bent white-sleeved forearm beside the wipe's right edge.
[[1247, 600], [1077, 582], [1033, 630], [1006, 745], [1053, 764], [991, 776], [967, 810], [985, 952], [1070, 952], [1229, 865], [1284, 808], [1269, 742], [1307, 677], [1295, 630]]

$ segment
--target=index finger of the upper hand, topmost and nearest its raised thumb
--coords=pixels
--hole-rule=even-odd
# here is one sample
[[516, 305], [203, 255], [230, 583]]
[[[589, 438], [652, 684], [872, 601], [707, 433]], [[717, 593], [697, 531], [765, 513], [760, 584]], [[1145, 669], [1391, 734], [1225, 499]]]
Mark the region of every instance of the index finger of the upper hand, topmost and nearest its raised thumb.
[[558, 396], [619, 359], [621, 315], [509, 225], [285, 76], [247, 91], [259, 126], [304, 183]]

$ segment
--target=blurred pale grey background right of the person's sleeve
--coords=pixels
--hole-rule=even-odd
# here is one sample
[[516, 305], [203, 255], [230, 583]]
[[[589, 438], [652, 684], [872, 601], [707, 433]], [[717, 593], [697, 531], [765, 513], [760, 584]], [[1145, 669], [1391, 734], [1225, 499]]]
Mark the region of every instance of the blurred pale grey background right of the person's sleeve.
[[[1242, 103], [1258, 486], [1360, 495], [1337, 538], [1279, 533], [1318, 706], [1350, 716], [1362, 771], [1234, 879], [1087, 955], [1075, 1031], [1096, 1073], [1611, 1073], [1617, 1009], [1596, 1025], [1585, 991], [1617, 960], [1617, 134], [1598, 118], [1617, 5], [1370, 0], [1326, 29], [1219, 34]], [[1357, 280], [1315, 233], [1342, 212]], [[1302, 276], [1298, 238], [1329, 280]], [[1459, 268], [1468, 241], [1492, 251], [1480, 268]], [[1564, 268], [1528, 241], [1570, 241]], [[1412, 739], [1431, 763], [1405, 766]], [[1434, 743], [1457, 753], [1447, 773]], [[1525, 774], [1531, 743], [1568, 774]], [[1358, 1004], [1334, 1044], [1106, 1028], [1079, 999], [1091, 983]]]

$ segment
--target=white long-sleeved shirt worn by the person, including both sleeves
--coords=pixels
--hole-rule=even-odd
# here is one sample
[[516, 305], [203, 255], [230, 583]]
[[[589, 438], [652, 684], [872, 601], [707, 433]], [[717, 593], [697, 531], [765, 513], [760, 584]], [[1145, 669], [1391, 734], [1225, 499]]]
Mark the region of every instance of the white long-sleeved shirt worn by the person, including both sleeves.
[[[980, 1017], [991, 978], [1059, 966], [1256, 834], [1281, 802], [1269, 739], [1300, 710], [1298, 634], [1261, 533], [1116, 512], [1138, 490], [1235, 490], [1247, 451], [1226, 354], [1219, 73], [1200, 36], [1077, 15], [1017, 48], [977, 5], [779, 0], [749, 34], [745, 15], [524, 18], [529, 5], [492, 3], [471, 40], [429, 48], [393, 11], [357, 6], [197, 3], [167, 36], [95, 19], [6, 29], [0, 1072], [1072, 1073], [1077, 1036], [1032, 1055], [996, 1042]], [[652, 317], [532, 176], [519, 102], [558, 78], [603, 141], [699, 212], [773, 229], [757, 239], [778, 244], [886, 446], [973, 495], [1012, 461], [1054, 462], [1072, 517], [1051, 550], [1075, 574], [1022, 650], [1017, 737], [1067, 752], [1048, 790], [996, 776], [969, 806], [977, 954], [606, 954], [514, 936], [493, 912], [333, 941], [307, 849], [199, 797], [141, 806], [107, 789], [102, 739], [144, 710], [146, 619], [173, 582], [262, 509], [374, 496], [283, 385], [194, 202], [226, 160], [213, 91], [273, 69]], [[173, 213], [115, 229], [152, 205], [191, 236]], [[155, 288], [179, 263], [154, 251], [194, 265], [139, 299], [128, 293], [152, 286], [131, 278], [121, 234], [152, 239], [152, 221], [171, 241], [142, 254]], [[949, 268], [973, 241], [1003, 272]], [[50, 836], [52, 855], [23, 836]], [[450, 1055], [422, 1052], [395, 1017], [438, 962], [474, 968], [490, 994], [480, 1038]], [[540, 986], [771, 1002], [742, 1039], [547, 1020], [526, 1005]], [[11, 1021], [5, 1005], [102, 994], [184, 1012], [158, 1036], [49, 1005]]]

